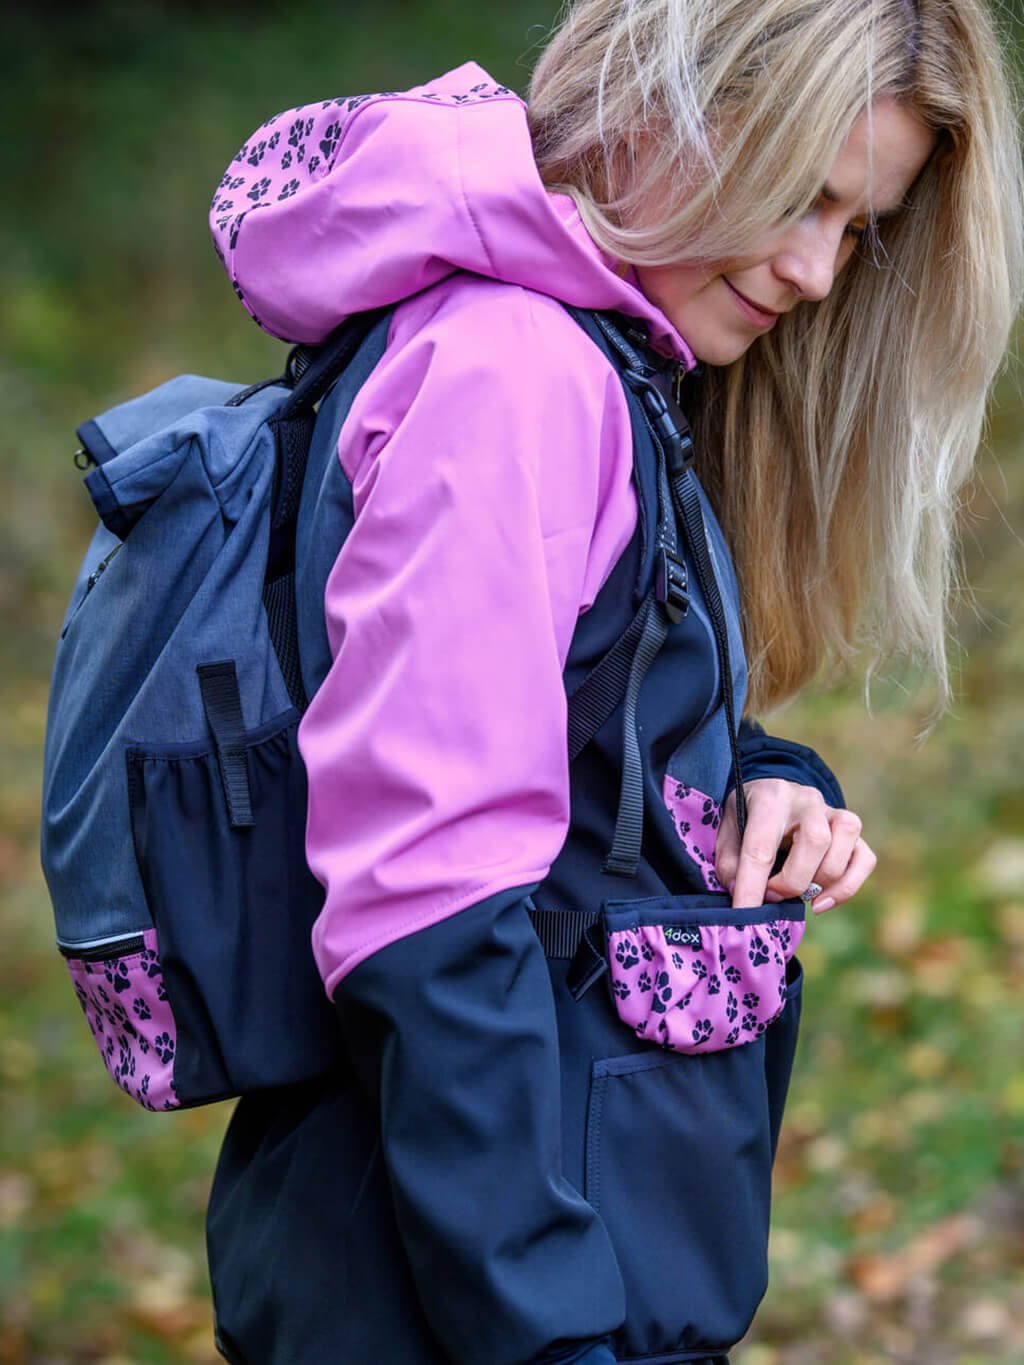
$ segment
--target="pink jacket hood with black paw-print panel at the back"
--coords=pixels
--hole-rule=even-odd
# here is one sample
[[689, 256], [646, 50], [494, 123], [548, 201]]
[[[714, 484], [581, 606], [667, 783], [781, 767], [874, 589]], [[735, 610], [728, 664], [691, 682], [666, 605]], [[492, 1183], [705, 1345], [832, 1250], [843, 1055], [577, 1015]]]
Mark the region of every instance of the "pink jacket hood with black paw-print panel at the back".
[[695, 363], [572, 199], [545, 188], [524, 102], [474, 61], [270, 119], [228, 167], [210, 227], [244, 306], [289, 341], [470, 270], [639, 318], [658, 351]]

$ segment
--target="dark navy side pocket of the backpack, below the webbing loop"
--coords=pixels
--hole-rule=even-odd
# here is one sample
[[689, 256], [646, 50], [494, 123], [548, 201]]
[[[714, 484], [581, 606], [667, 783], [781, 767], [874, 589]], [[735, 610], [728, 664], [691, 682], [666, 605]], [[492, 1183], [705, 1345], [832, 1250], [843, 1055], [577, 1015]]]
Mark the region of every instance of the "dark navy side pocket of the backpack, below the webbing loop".
[[131, 827], [177, 1022], [182, 1104], [310, 1080], [339, 1057], [313, 958], [322, 891], [306, 865], [292, 710], [244, 736], [251, 824], [231, 823], [217, 749], [127, 751]]

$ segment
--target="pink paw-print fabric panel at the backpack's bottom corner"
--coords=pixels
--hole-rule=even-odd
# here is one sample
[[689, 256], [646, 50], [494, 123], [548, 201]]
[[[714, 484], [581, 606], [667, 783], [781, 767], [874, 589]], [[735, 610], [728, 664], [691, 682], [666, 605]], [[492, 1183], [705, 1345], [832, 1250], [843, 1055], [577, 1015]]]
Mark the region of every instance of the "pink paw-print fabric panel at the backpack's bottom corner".
[[[154, 940], [152, 931], [146, 939]], [[145, 1108], [177, 1108], [175, 1020], [156, 949], [147, 945], [108, 962], [71, 958], [68, 969], [100, 1055], [117, 1085]]]

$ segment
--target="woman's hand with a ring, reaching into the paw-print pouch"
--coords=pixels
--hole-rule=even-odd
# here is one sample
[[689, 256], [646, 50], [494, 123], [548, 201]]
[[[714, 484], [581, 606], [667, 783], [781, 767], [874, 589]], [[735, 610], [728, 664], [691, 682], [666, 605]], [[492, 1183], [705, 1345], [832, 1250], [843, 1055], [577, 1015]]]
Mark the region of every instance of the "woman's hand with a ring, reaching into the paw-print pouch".
[[[762, 905], [803, 895], [811, 882], [822, 891], [815, 915], [841, 905], [860, 890], [878, 859], [860, 837], [860, 818], [834, 809], [814, 786], [781, 778], [745, 782], [747, 829], [740, 846], [736, 793], [722, 809], [715, 845], [715, 872], [739, 906]], [[780, 871], [771, 868], [780, 848], [788, 848]]]

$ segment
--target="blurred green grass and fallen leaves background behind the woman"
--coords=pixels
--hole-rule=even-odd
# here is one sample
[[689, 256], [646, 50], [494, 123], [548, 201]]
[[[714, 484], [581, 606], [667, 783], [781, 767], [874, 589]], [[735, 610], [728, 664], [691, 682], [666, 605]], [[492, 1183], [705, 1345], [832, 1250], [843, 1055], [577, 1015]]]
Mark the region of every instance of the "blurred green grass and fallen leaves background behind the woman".
[[[523, 90], [543, 0], [11, 10], [0, 44], [0, 1365], [213, 1361], [202, 1213], [229, 1106], [106, 1078], [38, 871], [49, 659], [90, 504], [74, 429], [179, 370], [277, 373], [206, 235], [270, 113], [467, 57]], [[1002, 10], [1014, 53], [1020, 14]], [[957, 704], [883, 680], [773, 718], [879, 870], [811, 925], [773, 1282], [736, 1365], [1024, 1362], [1024, 408], [1010, 369], [964, 508]], [[388, 1362], [390, 1365], [390, 1362]]]

